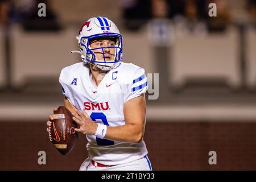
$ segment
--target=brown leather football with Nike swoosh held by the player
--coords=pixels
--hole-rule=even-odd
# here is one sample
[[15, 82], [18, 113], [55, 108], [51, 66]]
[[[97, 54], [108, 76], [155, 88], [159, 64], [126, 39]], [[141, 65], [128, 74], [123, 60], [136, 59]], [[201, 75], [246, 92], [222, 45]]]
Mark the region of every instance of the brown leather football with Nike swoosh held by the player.
[[49, 138], [55, 148], [63, 155], [68, 154], [75, 146], [78, 138], [75, 128], [77, 123], [73, 115], [65, 106], [59, 106], [53, 114], [53, 121], [49, 127]]

